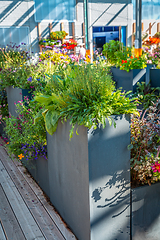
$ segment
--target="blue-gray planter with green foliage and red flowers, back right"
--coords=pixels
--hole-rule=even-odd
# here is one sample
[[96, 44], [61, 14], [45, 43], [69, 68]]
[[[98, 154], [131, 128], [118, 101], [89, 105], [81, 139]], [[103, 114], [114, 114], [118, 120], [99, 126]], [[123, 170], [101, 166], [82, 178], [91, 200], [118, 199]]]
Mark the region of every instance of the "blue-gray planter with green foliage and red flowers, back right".
[[136, 58], [131, 48], [125, 47], [117, 41], [110, 41], [103, 46], [103, 54], [108, 56], [112, 65], [111, 72], [117, 88], [136, 91], [137, 82], [145, 81], [146, 58], [144, 55]]

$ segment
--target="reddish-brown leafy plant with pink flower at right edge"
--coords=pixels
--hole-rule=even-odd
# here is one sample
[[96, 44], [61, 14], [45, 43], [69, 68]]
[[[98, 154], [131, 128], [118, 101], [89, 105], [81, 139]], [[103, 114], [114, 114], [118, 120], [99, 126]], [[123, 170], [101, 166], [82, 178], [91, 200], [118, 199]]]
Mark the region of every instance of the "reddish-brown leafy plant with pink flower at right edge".
[[160, 102], [131, 118], [132, 186], [160, 180]]

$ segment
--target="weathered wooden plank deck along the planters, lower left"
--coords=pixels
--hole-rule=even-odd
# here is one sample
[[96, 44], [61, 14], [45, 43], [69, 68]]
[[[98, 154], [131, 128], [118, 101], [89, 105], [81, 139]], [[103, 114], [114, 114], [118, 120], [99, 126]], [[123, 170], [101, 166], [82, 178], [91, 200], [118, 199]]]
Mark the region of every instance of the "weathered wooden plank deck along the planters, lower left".
[[0, 146], [0, 240], [23, 239], [76, 240], [26, 169]]

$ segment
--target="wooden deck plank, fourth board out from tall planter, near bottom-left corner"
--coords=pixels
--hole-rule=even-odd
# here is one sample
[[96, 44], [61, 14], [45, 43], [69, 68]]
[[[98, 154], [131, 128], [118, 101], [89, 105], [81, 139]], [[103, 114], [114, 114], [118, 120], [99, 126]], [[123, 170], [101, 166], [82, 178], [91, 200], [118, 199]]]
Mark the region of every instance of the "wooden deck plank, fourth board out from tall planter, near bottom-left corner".
[[[12, 211], [12, 208], [6, 198], [6, 195], [3, 191], [1, 184], [0, 184], [0, 217], [8, 239], [13, 240], [26, 239]], [[2, 237], [0, 237], [0, 239], [2, 239]]]

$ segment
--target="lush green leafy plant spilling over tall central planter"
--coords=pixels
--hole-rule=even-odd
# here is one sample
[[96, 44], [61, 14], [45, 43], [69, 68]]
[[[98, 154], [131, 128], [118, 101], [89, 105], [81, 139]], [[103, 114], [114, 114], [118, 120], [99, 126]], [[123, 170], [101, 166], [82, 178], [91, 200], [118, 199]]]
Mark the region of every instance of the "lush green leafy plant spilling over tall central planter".
[[137, 113], [133, 99], [127, 93], [115, 90], [111, 76], [99, 65], [73, 66], [68, 76], [63, 79], [54, 77], [50, 86], [52, 94], [39, 95], [35, 100], [43, 106], [35, 117], [35, 123], [43, 114], [46, 130], [49, 134], [56, 131], [58, 120], [70, 120], [73, 135], [75, 124], [85, 127], [106, 125], [108, 118], [112, 123], [112, 115]]

